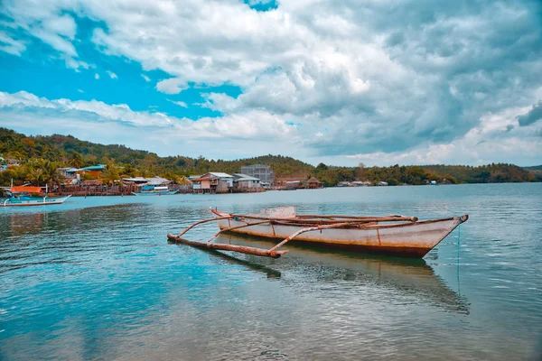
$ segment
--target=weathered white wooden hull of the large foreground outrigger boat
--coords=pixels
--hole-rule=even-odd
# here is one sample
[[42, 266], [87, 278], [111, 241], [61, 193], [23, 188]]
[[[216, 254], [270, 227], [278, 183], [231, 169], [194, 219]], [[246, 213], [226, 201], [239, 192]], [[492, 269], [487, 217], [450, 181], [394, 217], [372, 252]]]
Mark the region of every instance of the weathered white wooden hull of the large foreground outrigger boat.
[[[228, 216], [212, 210], [215, 217]], [[448, 236], [468, 216], [417, 221], [412, 223], [378, 224], [363, 227], [332, 228], [306, 232], [291, 242], [346, 251], [398, 255], [421, 258]], [[231, 218], [217, 221], [220, 229], [261, 223], [261, 218]], [[249, 236], [285, 239], [304, 226], [259, 224], [229, 232]]]

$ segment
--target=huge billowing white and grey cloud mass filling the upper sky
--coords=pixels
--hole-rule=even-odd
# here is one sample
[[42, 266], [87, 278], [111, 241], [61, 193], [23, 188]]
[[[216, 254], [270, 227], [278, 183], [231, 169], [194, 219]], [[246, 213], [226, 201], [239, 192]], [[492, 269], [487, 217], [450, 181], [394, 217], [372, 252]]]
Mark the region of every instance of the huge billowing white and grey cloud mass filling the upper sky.
[[[472, 132], [483, 138], [475, 143], [490, 143], [493, 135], [520, 140], [519, 130], [502, 133], [491, 116], [541, 100], [542, 25], [519, 0], [464, 6], [284, 0], [270, 12], [238, 0], [29, 1], [8, 2], [0, 12], [59, 51], [68, 66], [85, 67], [70, 14], [89, 17], [107, 25], [92, 32], [100, 51], [168, 74], [158, 91], [237, 85], [238, 97], [205, 94], [204, 106], [224, 120], [243, 122], [250, 114], [299, 123], [305, 149], [318, 156], [399, 157], [431, 147], [445, 153], [440, 145]], [[518, 144], [537, 144], [523, 135], [528, 139]]]

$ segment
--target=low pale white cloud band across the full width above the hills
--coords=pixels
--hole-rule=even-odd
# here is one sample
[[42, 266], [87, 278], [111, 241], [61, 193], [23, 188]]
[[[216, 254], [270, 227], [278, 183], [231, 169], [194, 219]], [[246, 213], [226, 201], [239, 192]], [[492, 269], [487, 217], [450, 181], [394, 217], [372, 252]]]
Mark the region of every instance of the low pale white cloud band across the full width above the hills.
[[[51, 133], [74, 134], [94, 142], [119, 143], [122, 139], [122, 143], [129, 146], [161, 155], [198, 156], [201, 149], [205, 149], [207, 156], [231, 159], [278, 152], [314, 164], [365, 162], [369, 166], [458, 162], [536, 164], [542, 158], [539, 128], [536, 124], [519, 126], [517, 119], [528, 109], [509, 108], [499, 114], [484, 116], [479, 126], [453, 143], [420, 144], [404, 152], [322, 157], [303, 147], [306, 134], [303, 126], [287, 124], [300, 120], [293, 115], [274, 116], [263, 110], [252, 110], [192, 120], [156, 111], [134, 111], [124, 104], [107, 105], [97, 100], [50, 100], [24, 91], [0, 92], [0, 125], [26, 133], [48, 129]], [[97, 131], [104, 126], [108, 129], [107, 136]], [[317, 138], [327, 136], [319, 130], [314, 130], [313, 134]], [[280, 149], [276, 148], [277, 143], [281, 144]]]

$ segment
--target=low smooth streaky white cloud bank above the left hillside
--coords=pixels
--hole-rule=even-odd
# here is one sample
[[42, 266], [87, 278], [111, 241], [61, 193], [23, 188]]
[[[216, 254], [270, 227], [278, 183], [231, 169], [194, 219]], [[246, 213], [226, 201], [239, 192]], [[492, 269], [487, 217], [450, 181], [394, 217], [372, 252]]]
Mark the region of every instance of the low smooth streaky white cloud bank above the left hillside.
[[255, 151], [272, 153], [276, 143], [292, 155], [299, 154], [295, 129], [280, 116], [258, 111], [192, 120], [97, 100], [50, 100], [27, 92], [0, 92], [0, 126], [25, 134], [72, 134], [91, 142], [123, 143], [160, 155], [197, 157], [203, 149], [208, 157], [233, 159], [253, 156]]

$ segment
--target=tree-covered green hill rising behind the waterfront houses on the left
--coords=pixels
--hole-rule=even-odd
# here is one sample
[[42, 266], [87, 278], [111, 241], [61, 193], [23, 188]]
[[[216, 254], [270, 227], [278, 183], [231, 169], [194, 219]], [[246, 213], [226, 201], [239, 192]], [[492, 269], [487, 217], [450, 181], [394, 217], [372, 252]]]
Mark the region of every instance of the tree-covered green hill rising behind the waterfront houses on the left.
[[[126, 175], [162, 174], [171, 178], [208, 171], [234, 173], [243, 165], [256, 163], [269, 165], [277, 177], [304, 178], [313, 170], [311, 164], [282, 155], [263, 155], [235, 161], [208, 160], [204, 157], [190, 158], [181, 155], [159, 157], [155, 153], [130, 149], [121, 144], [90, 143], [71, 135], [26, 136], [5, 128], [0, 128], [0, 156], [21, 160], [23, 164], [32, 162], [33, 159], [43, 159], [56, 162], [59, 166], [77, 168], [113, 162], [123, 166]], [[19, 180], [21, 177], [14, 178]]]

